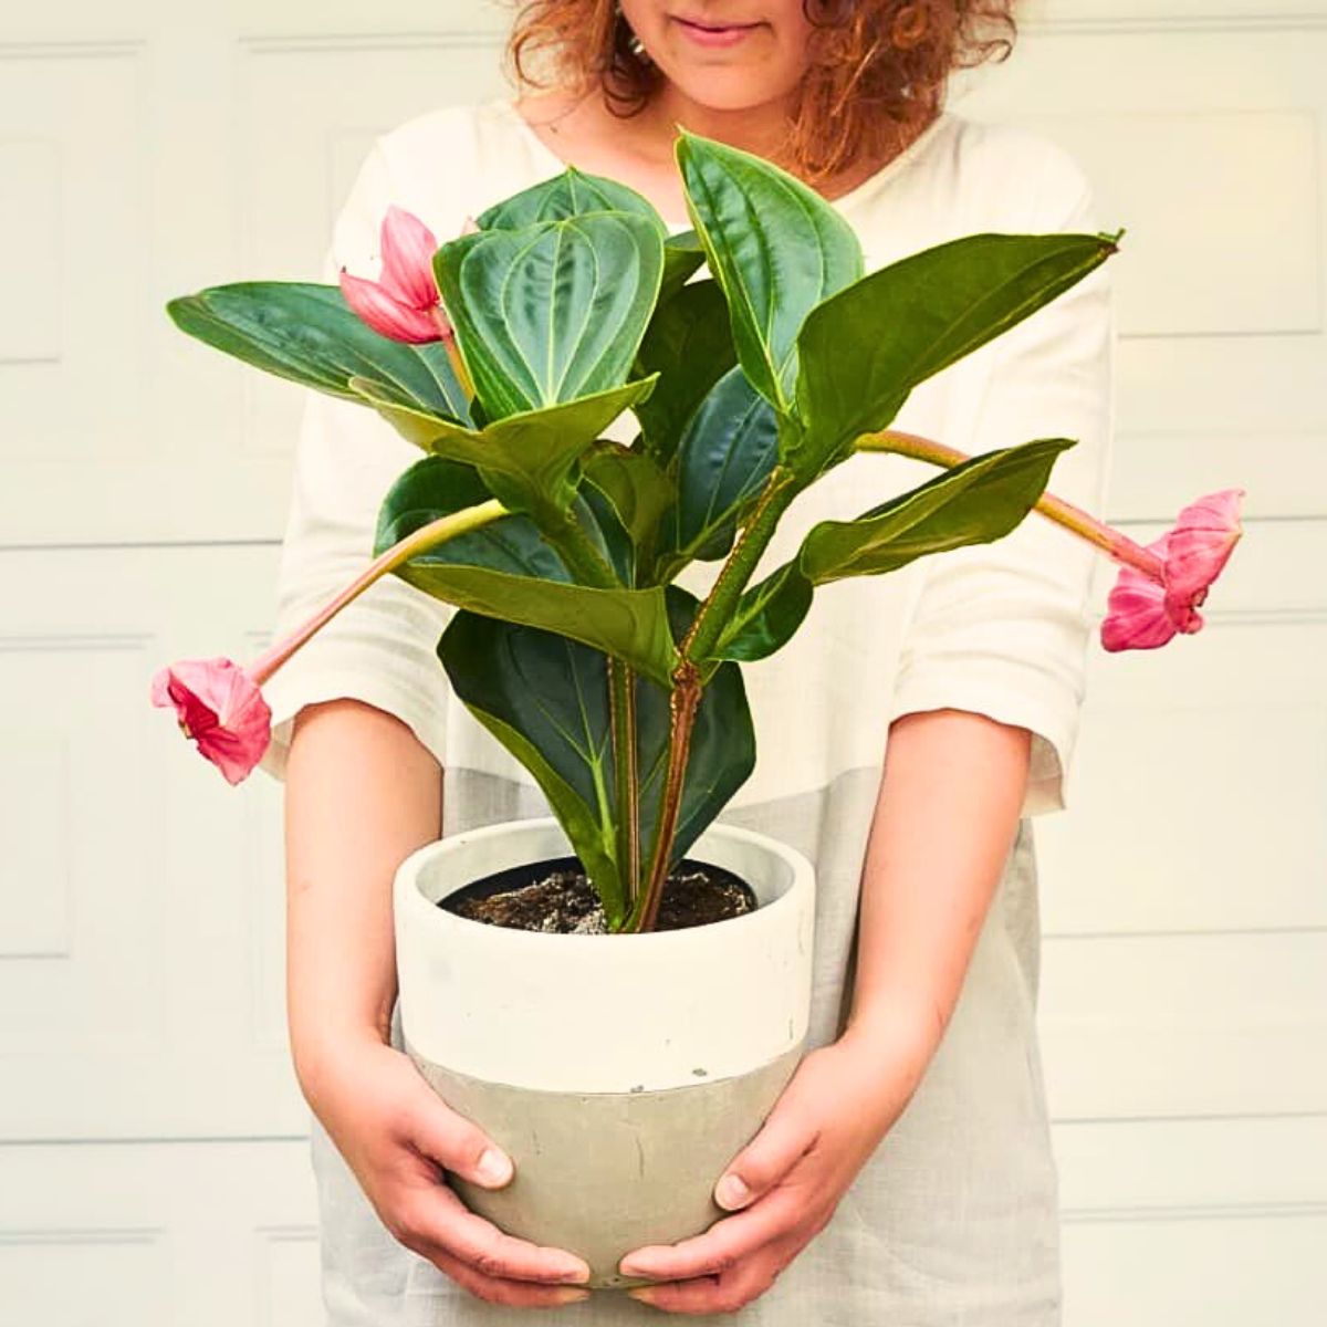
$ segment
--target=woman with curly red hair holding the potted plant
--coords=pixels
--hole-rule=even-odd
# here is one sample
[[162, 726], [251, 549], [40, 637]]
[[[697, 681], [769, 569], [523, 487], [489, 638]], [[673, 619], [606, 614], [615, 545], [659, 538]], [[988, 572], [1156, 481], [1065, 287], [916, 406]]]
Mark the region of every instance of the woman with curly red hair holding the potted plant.
[[[941, 110], [987, 53], [999, 0], [543, 0], [519, 7], [519, 104], [451, 106], [378, 138], [325, 279], [373, 275], [389, 203], [437, 235], [556, 174], [612, 175], [683, 228], [674, 125], [794, 170], [857, 230], [874, 269], [978, 231], [1096, 230], [1082, 171], [1038, 135]], [[1006, 44], [1007, 49], [1007, 44]], [[579, 77], [580, 82], [576, 82]], [[1104, 269], [917, 389], [896, 427], [987, 451], [1078, 438], [1055, 490], [1101, 504], [1112, 326]], [[629, 441], [630, 419], [613, 435]], [[366, 556], [415, 453], [370, 411], [311, 394], [281, 567], [296, 622]], [[756, 577], [827, 516], [928, 472], [859, 455], [799, 498]], [[401, 1054], [390, 881], [414, 848], [545, 807], [446, 694], [449, 609], [381, 581], [268, 686], [265, 768], [287, 782], [289, 1016], [314, 1112], [333, 1327], [625, 1323], [656, 1310], [760, 1324], [1048, 1327], [1059, 1322], [1056, 1174], [1035, 1035], [1031, 815], [1064, 804], [1083, 691], [1092, 553], [1032, 516], [1014, 535], [817, 597], [748, 670], [756, 774], [723, 820], [816, 863], [811, 1042], [766, 1127], [717, 1178], [733, 1214], [588, 1296], [573, 1254], [508, 1238], [442, 1182], [511, 1162]], [[691, 568], [703, 592], [714, 564]], [[280, 628], [279, 628], [280, 629]], [[297, 719], [297, 722], [296, 722]], [[888, 742], [886, 742], [888, 739]], [[446, 770], [446, 799], [442, 771]], [[859, 913], [860, 902], [860, 913]]]

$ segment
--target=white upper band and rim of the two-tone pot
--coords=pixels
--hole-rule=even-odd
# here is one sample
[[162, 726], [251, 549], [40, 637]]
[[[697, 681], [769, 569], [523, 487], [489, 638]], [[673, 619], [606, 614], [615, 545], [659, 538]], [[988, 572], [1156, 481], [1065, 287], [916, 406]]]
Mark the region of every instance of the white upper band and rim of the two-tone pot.
[[710, 825], [687, 860], [734, 871], [759, 906], [681, 930], [545, 934], [437, 906], [499, 871], [571, 855], [557, 821], [541, 817], [453, 835], [401, 863], [401, 1018], [419, 1056], [512, 1087], [640, 1092], [748, 1074], [802, 1043], [815, 916], [802, 853]]

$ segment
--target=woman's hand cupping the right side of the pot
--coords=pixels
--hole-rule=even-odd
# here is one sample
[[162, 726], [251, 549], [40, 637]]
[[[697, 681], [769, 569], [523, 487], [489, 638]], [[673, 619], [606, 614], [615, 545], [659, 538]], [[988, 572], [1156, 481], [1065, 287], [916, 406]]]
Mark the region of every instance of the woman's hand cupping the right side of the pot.
[[628, 1294], [674, 1314], [735, 1312], [833, 1216], [839, 1200], [902, 1113], [934, 1040], [852, 1028], [812, 1051], [752, 1141], [714, 1188], [736, 1212], [705, 1234], [629, 1253], [624, 1275], [660, 1285]]

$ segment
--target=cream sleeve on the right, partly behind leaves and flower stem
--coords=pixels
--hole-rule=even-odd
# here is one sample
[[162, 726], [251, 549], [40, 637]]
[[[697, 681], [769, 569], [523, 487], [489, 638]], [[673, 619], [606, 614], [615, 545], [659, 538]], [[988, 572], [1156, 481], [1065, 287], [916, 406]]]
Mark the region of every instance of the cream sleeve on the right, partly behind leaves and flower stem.
[[[1097, 231], [1082, 170], [1059, 149], [1047, 166], [1028, 231]], [[1093, 515], [1105, 498], [1113, 429], [1111, 261], [970, 357], [970, 391], [958, 394], [951, 431], [941, 439], [975, 454], [1034, 438], [1075, 438], [1056, 459], [1047, 491]], [[978, 361], [985, 361], [979, 369]], [[918, 564], [889, 718], [958, 709], [1028, 729], [1024, 816], [1067, 805], [1099, 556], [1034, 511], [1003, 539]]]

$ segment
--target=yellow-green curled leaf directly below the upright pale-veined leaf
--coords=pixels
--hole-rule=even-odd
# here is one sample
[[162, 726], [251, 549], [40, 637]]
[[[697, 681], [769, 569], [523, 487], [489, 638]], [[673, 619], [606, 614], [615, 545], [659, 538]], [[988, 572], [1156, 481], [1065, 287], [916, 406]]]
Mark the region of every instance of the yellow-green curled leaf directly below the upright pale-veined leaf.
[[403, 438], [434, 455], [475, 466], [507, 507], [531, 511], [572, 500], [577, 459], [613, 419], [650, 393], [654, 378], [507, 415], [479, 431], [377, 399], [369, 384], [356, 381], [354, 386]]

